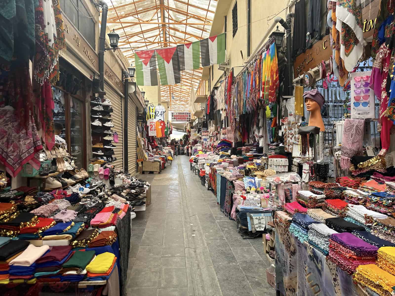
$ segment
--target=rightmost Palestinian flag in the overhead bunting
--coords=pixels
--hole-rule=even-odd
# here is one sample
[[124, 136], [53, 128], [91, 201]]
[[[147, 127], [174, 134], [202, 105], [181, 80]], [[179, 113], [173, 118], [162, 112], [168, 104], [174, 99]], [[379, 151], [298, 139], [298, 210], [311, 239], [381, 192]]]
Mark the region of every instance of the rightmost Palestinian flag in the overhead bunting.
[[200, 40], [201, 66], [225, 62], [225, 33]]

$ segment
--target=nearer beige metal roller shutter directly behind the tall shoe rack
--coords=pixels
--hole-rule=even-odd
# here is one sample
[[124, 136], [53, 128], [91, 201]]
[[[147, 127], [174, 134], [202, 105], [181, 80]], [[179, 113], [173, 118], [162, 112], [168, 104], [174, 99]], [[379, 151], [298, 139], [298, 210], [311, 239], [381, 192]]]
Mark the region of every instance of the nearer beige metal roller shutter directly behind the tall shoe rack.
[[104, 84], [104, 91], [106, 92], [105, 98], [111, 101], [114, 112], [111, 113], [113, 118], [114, 127], [113, 131], [118, 133], [119, 142], [112, 142], [113, 145], [117, 146], [114, 148], [114, 156], [117, 158], [116, 161], [111, 163], [115, 165], [118, 169], [123, 169], [123, 146], [122, 146], [122, 101], [121, 97], [113, 90], [109, 84]]

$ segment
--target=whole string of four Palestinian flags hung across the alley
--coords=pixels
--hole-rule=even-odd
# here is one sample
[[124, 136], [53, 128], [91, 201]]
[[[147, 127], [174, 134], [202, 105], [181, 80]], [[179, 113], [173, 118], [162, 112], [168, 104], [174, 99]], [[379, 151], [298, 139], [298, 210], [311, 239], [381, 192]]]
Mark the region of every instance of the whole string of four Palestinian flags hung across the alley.
[[175, 47], [134, 51], [137, 85], [161, 85], [181, 82], [180, 71], [199, 69], [225, 62], [225, 33]]

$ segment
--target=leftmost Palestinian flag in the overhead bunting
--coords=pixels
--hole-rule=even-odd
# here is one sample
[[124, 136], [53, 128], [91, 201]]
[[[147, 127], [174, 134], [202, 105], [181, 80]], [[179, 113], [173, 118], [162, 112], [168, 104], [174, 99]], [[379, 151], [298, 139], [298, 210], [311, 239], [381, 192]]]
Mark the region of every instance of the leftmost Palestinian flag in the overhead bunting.
[[155, 50], [134, 51], [137, 85], [158, 85]]

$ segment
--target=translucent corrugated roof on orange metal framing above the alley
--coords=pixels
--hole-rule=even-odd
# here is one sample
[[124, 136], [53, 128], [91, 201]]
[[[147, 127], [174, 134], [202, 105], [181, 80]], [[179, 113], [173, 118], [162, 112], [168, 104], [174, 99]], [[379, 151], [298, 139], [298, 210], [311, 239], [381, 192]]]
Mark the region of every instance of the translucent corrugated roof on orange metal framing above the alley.
[[[135, 49], [173, 47], [209, 37], [217, 0], [108, 0], [107, 26], [120, 36], [118, 46], [134, 65]], [[202, 69], [181, 71], [181, 83], [161, 86], [172, 111], [188, 111], [192, 86]], [[142, 87], [144, 89], [144, 87]]]

